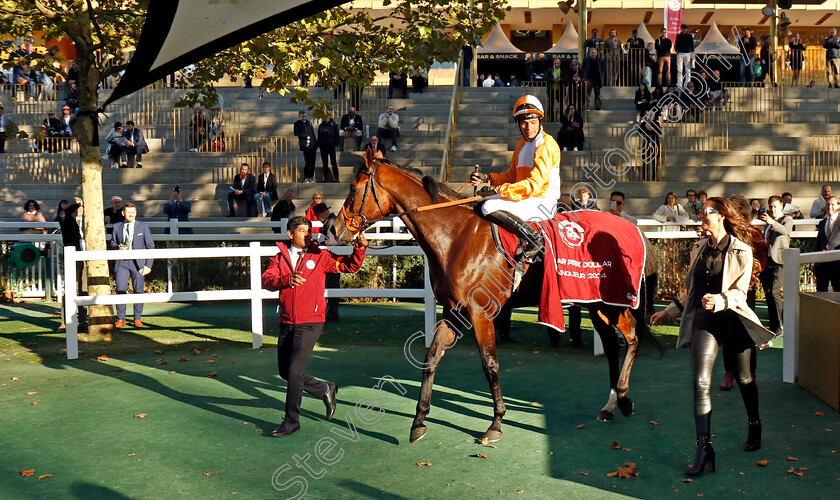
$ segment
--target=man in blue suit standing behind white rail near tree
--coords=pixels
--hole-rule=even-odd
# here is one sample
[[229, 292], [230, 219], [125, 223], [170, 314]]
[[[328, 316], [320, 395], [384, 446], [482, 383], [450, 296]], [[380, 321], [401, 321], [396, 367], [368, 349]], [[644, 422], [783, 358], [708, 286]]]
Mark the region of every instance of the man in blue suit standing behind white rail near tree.
[[[111, 233], [111, 242], [108, 245], [111, 249], [119, 250], [142, 250], [155, 247], [152, 239], [152, 232], [145, 222], [137, 220], [137, 206], [134, 203], [126, 203], [123, 206], [125, 222], [114, 224]], [[115, 280], [117, 282], [117, 294], [125, 294], [128, 291], [128, 278], [134, 286], [134, 293], [143, 293], [146, 275], [152, 272], [153, 259], [118, 260], [114, 265]], [[125, 326], [125, 304], [117, 304], [117, 328]], [[143, 328], [140, 319], [143, 317], [143, 304], [134, 304], [134, 326]]]

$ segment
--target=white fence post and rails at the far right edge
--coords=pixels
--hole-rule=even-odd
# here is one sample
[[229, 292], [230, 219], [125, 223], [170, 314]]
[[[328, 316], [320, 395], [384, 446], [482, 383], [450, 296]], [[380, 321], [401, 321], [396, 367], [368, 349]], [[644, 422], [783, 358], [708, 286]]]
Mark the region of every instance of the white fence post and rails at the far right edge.
[[[799, 266], [840, 261], [840, 250], [800, 253], [798, 248], [788, 248], [784, 251], [783, 259], [782, 278], [785, 301], [782, 314], [785, 336], [782, 380], [792, 384], [796, 382], [796, 377], [799, 375]], [[835, 292], [840, 292], [840, 290], [835, 290]]]

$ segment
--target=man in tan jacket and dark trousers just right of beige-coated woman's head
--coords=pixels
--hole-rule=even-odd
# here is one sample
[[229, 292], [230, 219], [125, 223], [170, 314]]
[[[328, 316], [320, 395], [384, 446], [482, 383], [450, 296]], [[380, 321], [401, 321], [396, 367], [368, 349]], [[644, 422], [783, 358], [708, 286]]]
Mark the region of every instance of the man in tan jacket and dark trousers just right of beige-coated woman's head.
[[770, 319], [770, 331], [781, 335], [782, 323], [782, 255], [790, 247], [790, 233], [793, 231], [793, 219], [782, 213], [782, 199], [771, 196], [767, 200], [770, 213], [759, 216], [767, 224], [764, 241], [767, 242], [769, 259], [767, 268], [761, 272], [761, 286], [767, 301], [767, 316]]

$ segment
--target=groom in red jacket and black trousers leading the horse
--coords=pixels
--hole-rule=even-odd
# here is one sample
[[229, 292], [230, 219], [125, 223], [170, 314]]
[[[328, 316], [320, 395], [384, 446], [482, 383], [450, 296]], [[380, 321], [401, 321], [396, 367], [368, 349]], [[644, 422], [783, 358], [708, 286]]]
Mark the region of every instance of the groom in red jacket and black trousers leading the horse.
[[277, 365], [287, 383], [286, 418], [271, 433], [273, 437], [286, 437], [300, 430], [303, 391], [324, 401], [327, 420], [335, 414], [338, 387], [306, 373], [306, 365], [324, 329], [325, 273], [355, 273], [362, 265], [367, 246], [367, 239], [360, 233], [353, 243], [353, 254], [339, 257], [312, 241], [312, 223], [306, 217], [292, 217], [287, 228], [290, 241], [277, 243], [280, 252], [271, 258], [262, 275], [263, 287], [280, 291]]

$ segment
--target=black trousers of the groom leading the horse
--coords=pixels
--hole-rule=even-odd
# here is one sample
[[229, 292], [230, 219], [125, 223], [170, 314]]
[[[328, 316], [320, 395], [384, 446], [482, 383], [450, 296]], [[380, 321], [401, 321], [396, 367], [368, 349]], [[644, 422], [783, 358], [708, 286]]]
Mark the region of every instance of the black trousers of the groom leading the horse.
[[306, 373], [315, 342], [324, 329], [323, 323], [289, 325], [280, 323], [277, 337], [277, 369], [286, 381], [285, 423], [297, 425], [300, 421], [300, 402], [306, 391], [318, 399], [329, 389], [326, 382]]

